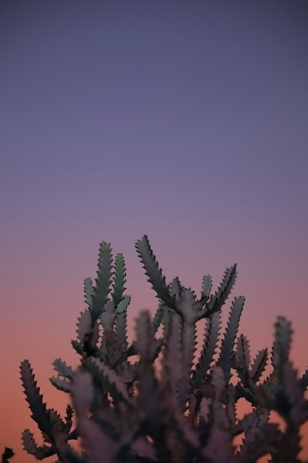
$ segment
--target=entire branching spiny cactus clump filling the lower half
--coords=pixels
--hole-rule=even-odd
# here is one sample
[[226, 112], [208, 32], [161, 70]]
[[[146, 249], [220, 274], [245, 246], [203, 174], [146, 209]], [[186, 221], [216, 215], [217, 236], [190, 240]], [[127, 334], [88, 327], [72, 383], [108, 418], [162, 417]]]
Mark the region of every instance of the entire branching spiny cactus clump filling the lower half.
[[[300, 462], [299, 428], [308, 420], [304, 399], [308, 370], [297, 378], [289, 360], [290, 322], [283, 317], [277, 320], [273, 372], [260, 384], [270, 352], [262, 349], [252, 359], [248, 339], [238, 334], [244, 297], [233, 300], [226, 332], [223, 339], [220, 336], [221, 308], [236, 280], [236, 264], [226, 269], [214, 294], [211, 277], [205, 275], [197, 299], [178, 277], [166, 284], [146, 235], [136, 242], [136, 249], [159, 299], [154, 319], [148, 312], [140, 313], [136, 340], [128, 345], [131, 298], [124, 294], [125, 262], [117, 254], [113, 270], [110, 244], [102, 242], [96, 286], [85, 279], [88, 307], [79, 316], [77, 339], [72, 340], [80, 366], [73, 371], [56, 359], [58, 375], [50, 379], [71, 395], [73, 407], [67, 406], [64, 418], [46, 407], [30, 363], [21, 363], [31, 418], [44, 438], [38, 446], [26, 429], [24, 449], [37, 460], [54, 455], [63, 463], [254, 463], [266, 454], [273, 463]], [[205, 319], [205, 335], [195, 366], [196, 322], [200, 319]], [[156, 338], [160, 325], [163, 338]], [[129, 362], [133, 355], [139, 356], [134, 364]], [[154, 362], [159, 355], [158, 375]], [[230, 382], [231, 369], [239, 378], [236, 385]], [[252, 413], [239, 420], [236, 403], [242, 397], [252, 405]], [[284, 419], [284, 432], [269, 422], [272, 410]], [[74, 430], [73, 413], [77, 419]], [[243, 443], [236, 451], [233, 441], [242, 433]], [[79, 437], [81, 454], [69, 444]]]

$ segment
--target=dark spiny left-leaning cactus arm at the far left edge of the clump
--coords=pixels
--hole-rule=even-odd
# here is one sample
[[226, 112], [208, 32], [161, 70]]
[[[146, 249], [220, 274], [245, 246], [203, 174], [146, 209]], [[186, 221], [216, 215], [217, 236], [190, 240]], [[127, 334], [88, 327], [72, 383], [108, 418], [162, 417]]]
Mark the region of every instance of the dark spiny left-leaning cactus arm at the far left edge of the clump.
[[23, 382], [24, 394], [32, 412], [31, 418], [36, 421], [39, 428], [49, 434], [52, 432], [52, 424], [40, 388], [36, 386], [36, 381], [32, 373], [31, 365], [28, 360], [24, 360], [20, 365], [21, 380]]

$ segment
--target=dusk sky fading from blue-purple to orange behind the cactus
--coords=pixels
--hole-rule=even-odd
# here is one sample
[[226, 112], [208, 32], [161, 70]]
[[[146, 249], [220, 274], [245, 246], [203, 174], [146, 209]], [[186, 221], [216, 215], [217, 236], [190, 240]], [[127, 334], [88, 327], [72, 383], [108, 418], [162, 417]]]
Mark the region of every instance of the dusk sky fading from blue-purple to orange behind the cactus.
[[307, 23], [307, 1], [0, 2], [0, 451], [14, 463], [34, 461], [25, 428], [42, 443], [18, 367], [64, 413], [48, 378], [55, 358], [78, 364], [102, 240], [126, 260], [130, 340], [158, 303], [134, 248], [146, 233], [167, 282], [198, 297], [237, 262], [252, 354], [284, 315], [305, 370]]

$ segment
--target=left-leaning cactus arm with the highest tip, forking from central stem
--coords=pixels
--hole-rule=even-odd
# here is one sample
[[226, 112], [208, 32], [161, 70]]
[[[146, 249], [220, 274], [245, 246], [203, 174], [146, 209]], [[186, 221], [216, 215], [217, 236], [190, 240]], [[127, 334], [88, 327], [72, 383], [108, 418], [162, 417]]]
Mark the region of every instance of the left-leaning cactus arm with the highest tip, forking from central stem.
[[[146, 235], [139, 239], [135, 247], [138, 252], [139, 259], [143, 263], [145, 275], [148, 276], [148, 281], [151, 283], [152, 288], [156, 292], [156, 296], [162, 299], [166, 306], [178, 312], [175, 296], [170, 294], [170, 288], [166, 284], [166, 278], [162, 274], [162, 269], [159, 268], [156, 261], [156, 256], [151, 250], [148, 237]], [[181, 315], [181, 313], [180, 313]]]

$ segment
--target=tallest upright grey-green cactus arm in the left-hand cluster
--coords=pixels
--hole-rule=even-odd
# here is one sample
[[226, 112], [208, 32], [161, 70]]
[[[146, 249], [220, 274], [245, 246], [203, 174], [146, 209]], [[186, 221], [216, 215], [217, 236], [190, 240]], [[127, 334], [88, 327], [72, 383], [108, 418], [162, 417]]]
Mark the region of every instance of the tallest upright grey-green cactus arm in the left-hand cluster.
[[108, 302], [109, 287], [112, 282], [112, 253], [110, 243], [102, 241], [100, 244], [96, 287], [92, 295], [90, 307], [92, 322], [103, 312]]

